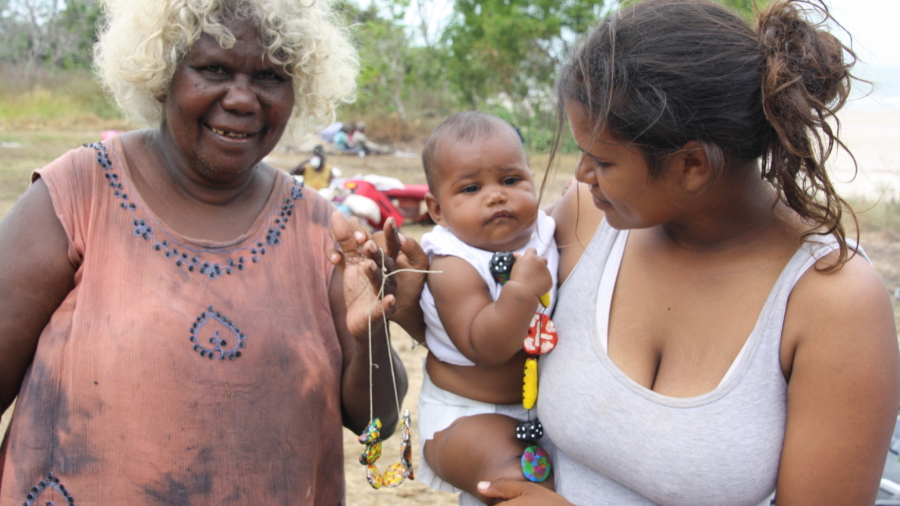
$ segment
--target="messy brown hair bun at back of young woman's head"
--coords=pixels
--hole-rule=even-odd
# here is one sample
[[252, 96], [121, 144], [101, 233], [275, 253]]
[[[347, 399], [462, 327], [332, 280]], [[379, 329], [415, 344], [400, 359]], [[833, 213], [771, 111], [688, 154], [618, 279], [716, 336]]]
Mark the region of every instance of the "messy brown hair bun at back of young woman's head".
[[[810, 21], [811, 15], [822, 19]], [[820, 0], [774, 1], [760, 13], [757, 34], [765, 53], [766, 96], [806, 101], [811, 109], [834, 111], [843, 105], [856, 56], [827, 31], [828, 19]]]

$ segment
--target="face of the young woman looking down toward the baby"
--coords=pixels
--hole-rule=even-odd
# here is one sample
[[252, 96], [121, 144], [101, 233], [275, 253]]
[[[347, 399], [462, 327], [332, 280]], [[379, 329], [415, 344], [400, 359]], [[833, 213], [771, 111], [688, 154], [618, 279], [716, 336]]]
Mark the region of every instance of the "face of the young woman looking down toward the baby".
[[594, 121], [581, 104], [566, 104], [572, 136], [581, 151], [575, 179], [590, 185], [594, 205], [617, 229], [648, 228], [673, 218], [677, 204], [664, 168], [655, 178], [637, 146], [607, 129], [594, 134]]

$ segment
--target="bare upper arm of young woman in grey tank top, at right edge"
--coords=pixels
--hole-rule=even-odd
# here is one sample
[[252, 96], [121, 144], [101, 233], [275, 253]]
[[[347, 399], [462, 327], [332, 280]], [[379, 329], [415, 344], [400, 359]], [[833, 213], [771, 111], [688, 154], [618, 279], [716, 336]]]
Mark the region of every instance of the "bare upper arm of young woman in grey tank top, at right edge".
[[872, 504], [900, 405], [893, 310], [875, 269], [857, 256], [832, 273], [807, 272], [782, 339], [778, 504]]

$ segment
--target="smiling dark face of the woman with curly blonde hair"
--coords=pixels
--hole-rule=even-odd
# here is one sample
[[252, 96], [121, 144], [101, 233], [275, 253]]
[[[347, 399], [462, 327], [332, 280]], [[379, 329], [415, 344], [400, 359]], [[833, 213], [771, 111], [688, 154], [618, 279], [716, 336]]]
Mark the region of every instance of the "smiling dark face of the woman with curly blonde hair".
[[234, 46], [206, 34], [193, 45], [165, 97], [162, 127], [182, 171], [219, 182], [239, 179], [272, 151], [294, 107], [291, 77], [266, 57], [256, 29], [224, 24]]

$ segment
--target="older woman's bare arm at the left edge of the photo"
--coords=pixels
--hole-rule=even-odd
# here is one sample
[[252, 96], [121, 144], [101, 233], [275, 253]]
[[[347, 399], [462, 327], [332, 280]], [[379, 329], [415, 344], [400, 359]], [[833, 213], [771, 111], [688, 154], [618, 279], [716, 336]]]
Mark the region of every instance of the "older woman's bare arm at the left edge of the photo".
[[67, 249], [38, 179], [0, 222], [0, 411], [18, 395], [44, 326], [75, 285]]

